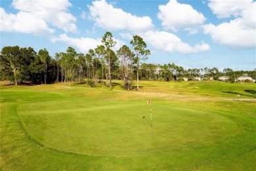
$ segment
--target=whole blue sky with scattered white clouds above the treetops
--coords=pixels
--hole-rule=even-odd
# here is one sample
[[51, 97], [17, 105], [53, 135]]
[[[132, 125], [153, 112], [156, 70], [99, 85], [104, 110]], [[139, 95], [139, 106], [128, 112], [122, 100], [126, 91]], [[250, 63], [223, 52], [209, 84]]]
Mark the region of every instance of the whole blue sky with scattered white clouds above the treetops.
[[1, 1], [1, 44], [46, 48], [54, 57], [68, 46], [87, 54], [110, 31], [118, 50], [133, 35], [151, 51], [146, 63], [184, 69], [256, 68], [256, 2], [196, 1]]

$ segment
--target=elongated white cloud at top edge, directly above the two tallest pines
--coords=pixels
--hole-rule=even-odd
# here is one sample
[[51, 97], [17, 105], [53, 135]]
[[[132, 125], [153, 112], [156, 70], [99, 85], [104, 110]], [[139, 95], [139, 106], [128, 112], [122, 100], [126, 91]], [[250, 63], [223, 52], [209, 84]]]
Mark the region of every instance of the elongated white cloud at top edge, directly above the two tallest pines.
[[95, 24], [106, 30], [127, 29], [129, 31], [143, 31], [154, 26], [148, 16], [133, 16], [121, 8], [114, 8], [104, 0], [93, 1], [93, 5], [88, 5], [88, 8]]

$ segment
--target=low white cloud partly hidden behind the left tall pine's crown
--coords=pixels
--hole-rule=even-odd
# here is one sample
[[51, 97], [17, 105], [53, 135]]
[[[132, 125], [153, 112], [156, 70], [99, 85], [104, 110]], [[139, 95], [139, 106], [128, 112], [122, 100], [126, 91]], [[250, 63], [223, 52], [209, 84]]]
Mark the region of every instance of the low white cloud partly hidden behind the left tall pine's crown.
[[[52, 37], [52, 42], [65, 42], [70, 46], [74, 46], [79, 49], [80, 52], [83, 54], [87, 54], [90, 49], [95, 49], [98, 45], [101, 45], [101, 38], [100, 39], [92, 39], [88, 37], [81, 37], [81, 38], [72, 38], [68, 37], [66, 34], [59, 35], [58, 37]], [[124, 42], [118, 39], [114, 39], [117, 42], [116, 46], [114, 46], [113, 50], [118, 50]]]

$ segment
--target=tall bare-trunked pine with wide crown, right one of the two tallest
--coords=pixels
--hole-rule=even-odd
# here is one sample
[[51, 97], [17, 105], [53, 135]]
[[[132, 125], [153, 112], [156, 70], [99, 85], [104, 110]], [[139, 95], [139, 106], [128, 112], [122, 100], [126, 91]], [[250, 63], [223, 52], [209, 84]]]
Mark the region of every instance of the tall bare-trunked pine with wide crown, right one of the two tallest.
[[137, 90], [139, 90], [139, 63], [140, 61], [146, 61], [146, 59], [148, 59], [150, 50], [146, 50], [146, 42], [144, 42], [138, 35], [133, 36], [130, 43], [135, 52], [135, 63], [137, 65]]

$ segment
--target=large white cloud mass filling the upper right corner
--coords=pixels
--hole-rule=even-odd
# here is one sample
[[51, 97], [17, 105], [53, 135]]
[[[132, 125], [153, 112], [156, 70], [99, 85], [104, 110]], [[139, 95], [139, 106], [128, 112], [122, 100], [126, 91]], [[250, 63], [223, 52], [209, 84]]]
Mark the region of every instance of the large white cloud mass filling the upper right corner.
[[235, 19], [219, 25], [203, 25], [203, 33], [231, 48], [256, 48], [256, 2], [211, 0], [208, 6], [218, 18]]

